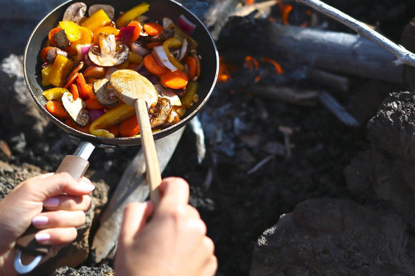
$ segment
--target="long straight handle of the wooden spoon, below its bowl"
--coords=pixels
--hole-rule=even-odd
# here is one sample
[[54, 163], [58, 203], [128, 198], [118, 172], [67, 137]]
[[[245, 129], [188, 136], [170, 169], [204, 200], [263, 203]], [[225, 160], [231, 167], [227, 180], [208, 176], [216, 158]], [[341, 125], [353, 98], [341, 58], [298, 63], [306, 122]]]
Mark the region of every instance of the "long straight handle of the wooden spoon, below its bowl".
[[150, 186], [150, 199], [154, 206], [157, 206], [158, 201], [160, 200], [158, 186], [161, 183], [161, 173], [153, 132], [151, 131], [147, 104], [145, 103], [145, 100], [137, 99], [134, 102], [134, 106], [136, 108], [138, 126], [140, 126], [142, 152], [144, 153], [147, 181]]

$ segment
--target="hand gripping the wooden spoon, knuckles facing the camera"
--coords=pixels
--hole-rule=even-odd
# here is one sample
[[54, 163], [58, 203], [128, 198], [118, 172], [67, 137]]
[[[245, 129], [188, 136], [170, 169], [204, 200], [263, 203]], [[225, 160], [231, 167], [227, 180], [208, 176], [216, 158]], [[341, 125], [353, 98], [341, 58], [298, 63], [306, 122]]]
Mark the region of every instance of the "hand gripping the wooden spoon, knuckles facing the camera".
[[214, 275], [214, 244], [206, 236], [199, 213], [187, 203], [187, 182], [163, 179], [160, 194], [155, 210], [151, 202], [135, 202], [125, 208], [114, 264], [116, 275]]

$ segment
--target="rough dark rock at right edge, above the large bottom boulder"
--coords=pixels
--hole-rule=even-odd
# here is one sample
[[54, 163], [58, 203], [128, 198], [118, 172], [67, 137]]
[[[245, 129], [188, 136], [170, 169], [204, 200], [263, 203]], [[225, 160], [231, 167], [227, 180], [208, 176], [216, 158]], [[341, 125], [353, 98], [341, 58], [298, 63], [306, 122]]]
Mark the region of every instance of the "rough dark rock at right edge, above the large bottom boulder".
[[415, 160], [415, 92], [393, 92], [367, 124], [372, 148]]

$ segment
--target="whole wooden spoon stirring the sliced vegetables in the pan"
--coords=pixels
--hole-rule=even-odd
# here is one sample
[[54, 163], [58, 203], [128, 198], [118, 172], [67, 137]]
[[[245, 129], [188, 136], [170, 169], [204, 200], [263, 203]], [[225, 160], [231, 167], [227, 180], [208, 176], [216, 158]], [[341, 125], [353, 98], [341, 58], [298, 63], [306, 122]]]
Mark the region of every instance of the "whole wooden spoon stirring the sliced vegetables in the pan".
[[142, 151], [147, 170], [147, 181], [150, 185], [150, 199], [154, 206], [158, 204], [158, 186], [161, 183], [160, 166], [153, 132], [151, 132], [148, 109], [158, 100], [158, 92], [147, 78], [129, 69], [116, 70], [110, 77], [110, 83], [118, 93], [118, 97], [129, 106], [136, 108]]

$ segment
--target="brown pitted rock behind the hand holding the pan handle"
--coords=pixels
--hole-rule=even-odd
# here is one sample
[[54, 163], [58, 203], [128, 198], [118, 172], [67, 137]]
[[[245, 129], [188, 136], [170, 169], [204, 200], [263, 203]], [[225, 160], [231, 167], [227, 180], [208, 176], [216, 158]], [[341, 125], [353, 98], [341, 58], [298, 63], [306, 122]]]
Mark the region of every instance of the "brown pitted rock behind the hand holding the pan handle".
[[[21, 181], [41, 174], [43, 171], [33, 165], [22, 164], [14, 166], [0, 161], [0, 199], [3, 199]], [[89, 256], [89, 232], [93, 221], [107, 204], [108, 186], [104, 183], [94, 182], [96, 188], [92, 193], [92, 206], [86, 213], [86, 223], [78, 228], [78, 236], [75, 242], [62, 248], [58, 255], [48, 259], [38, 266], [30, 275], [50, 275], [61, 266], [77, 267], [86, 262]]]

